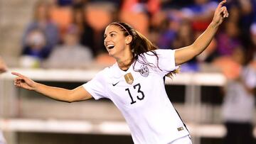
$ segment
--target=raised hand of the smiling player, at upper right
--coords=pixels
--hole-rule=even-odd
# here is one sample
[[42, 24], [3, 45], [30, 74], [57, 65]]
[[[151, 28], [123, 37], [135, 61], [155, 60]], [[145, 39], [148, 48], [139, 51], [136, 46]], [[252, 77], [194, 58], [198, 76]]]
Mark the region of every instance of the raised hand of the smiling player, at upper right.
[[212, 23], [215, 26], [220, 26], [223, 23], [224, 18], [228, 18], [228, 10], [226, 6], [223, 6], [227, 1], [221, 1], [218, 7], [215, 9]]

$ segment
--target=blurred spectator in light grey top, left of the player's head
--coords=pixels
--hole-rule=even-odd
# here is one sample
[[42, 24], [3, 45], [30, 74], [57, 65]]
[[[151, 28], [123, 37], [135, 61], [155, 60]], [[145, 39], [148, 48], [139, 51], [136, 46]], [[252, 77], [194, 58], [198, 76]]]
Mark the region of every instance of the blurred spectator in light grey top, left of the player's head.
[[[62, 45], [58, 45], [46, 60], [49, 68], [87, 68], [92, 62], [92, 52], [79, 44], [78, 28], [70, 26]], [[68, 58], [70, 57], [70, 58]]]

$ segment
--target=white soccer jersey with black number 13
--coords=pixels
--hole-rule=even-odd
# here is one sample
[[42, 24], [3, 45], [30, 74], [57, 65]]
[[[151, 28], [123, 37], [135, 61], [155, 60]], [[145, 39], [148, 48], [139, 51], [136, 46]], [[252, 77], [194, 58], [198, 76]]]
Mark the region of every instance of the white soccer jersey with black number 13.
[[[116, 63], [83, 84], [95, 99], [104, 97], [114, 102], [127, 121], [135, 144], [166, 144], [189, 134], [164, 87], [164, 76], [178, 68], [175, 51], [155, 52], [161, 70], [135, 62], [123, 71]], [[153, 53], [147, 54], [144, 53], [147, 62], [157, 65]]]

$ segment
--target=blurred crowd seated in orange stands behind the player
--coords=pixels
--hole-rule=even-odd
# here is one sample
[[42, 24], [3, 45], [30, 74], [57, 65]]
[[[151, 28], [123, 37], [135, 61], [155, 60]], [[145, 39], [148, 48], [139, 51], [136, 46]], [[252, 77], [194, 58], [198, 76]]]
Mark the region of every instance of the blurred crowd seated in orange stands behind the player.
[[[181, 48], [203, 33], [217, 5], [217, 0], [39, 0], [23, 33], [21, 55], [33, 57], [38, 67], [111, 65], [103, 33], [112, 21], [129, 23], [161, 49]], [[239, 66], [232, 56], [236, 49], [245, 52], [246, 63], [256, 59], [256, 2], [232, 0], [227, 7], [230, 16], [207, 50], [181, 71], [201, 71], [204, 64], [233, 70]]]

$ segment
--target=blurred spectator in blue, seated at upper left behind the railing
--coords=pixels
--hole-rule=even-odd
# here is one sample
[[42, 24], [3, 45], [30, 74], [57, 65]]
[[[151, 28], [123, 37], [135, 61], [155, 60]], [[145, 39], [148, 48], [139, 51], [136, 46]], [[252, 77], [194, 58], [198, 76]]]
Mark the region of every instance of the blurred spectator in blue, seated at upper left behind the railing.
[[22, 55], [30, 55], [40, 60], [50, 54], [58, 43], [58, 28], [50, 21], [50, 5], [46, 1], [38, 1], [34, 7], [34, 18], [23, 33]]

